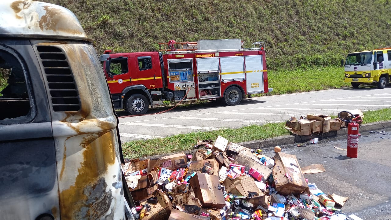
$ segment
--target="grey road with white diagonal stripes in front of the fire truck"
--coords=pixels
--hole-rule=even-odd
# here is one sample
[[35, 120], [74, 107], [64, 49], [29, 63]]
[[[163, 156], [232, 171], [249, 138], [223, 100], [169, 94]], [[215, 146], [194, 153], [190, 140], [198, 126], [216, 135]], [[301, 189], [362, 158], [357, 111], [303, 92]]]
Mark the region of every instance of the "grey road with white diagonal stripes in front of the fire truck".
[[[391, 107], [391, 87], [331, 89], [244, 99], [237, 106], [219, 102], [178, 106], [169, 112], [119, 119], [121, 141], [167, 137], [178, 133], [239, 128], [250, 124], [287, 121], [303, 114], [336, 115], [342, 110], [362, 111]], [[117, 112], [126, 116], [126, 112]]]

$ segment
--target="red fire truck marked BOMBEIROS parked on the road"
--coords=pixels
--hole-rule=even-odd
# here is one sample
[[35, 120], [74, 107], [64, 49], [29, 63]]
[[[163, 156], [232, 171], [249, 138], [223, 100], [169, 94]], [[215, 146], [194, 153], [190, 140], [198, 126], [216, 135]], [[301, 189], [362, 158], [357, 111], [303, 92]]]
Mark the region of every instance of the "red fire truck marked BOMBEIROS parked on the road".
[[247, 49], [240, 39], [159, 45], [160, 52], [100, 55], [115, 109], [140, 115], [165, 100], [222, 99], [237, 105], [247, 95], [273, 90], [263, 42]]

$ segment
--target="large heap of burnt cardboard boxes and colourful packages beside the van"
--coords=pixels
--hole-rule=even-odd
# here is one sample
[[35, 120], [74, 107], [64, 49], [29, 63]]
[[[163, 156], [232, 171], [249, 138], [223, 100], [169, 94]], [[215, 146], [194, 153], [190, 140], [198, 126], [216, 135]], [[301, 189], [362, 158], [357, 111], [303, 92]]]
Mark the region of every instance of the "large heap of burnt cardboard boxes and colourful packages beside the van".
[[[204, 149], [123, 166], [136, 219], [346, 219], [335, 204], [342, 207], [347, 197], [309, 184], [295, 155], [269, 158], [221, 136], [196, 146]], [[325, 171], [319, 166], [305, 173]]]

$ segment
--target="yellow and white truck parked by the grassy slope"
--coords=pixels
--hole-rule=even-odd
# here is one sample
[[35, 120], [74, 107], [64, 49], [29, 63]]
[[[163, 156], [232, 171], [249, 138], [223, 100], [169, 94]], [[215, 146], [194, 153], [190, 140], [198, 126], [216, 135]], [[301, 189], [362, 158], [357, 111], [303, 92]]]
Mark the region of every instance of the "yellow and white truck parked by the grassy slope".
[[391, 47], [348, 54], [345, 67], [344, 82], [352, 83], [352, 87], [360, 85], [377, 85], [386, 88], [391, 74]]

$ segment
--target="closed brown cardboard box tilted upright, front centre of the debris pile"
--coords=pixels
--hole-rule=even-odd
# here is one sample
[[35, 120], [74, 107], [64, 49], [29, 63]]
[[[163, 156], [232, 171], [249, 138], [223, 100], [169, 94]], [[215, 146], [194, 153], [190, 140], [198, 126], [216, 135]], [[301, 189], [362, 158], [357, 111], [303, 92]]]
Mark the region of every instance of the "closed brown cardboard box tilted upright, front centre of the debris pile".
[[218, 176], [197, 173], [189, 180], [189, 183], [194, 190], [195, 197], [201, 201], [202, 207], [221, 209], [225, 206]]

